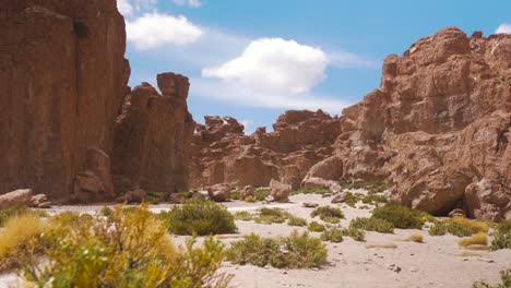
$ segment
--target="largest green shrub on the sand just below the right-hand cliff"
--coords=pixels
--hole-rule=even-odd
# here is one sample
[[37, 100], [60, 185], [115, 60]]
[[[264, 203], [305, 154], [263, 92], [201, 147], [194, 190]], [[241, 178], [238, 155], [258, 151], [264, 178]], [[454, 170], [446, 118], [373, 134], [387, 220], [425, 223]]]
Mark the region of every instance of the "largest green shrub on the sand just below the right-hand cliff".
[[383, 207], [375, 208], [371, 218], [384, 219], [394, 225], [395, 228], [421, 229], [427, 215], [427, 213], [417, 209], [389, 203]]

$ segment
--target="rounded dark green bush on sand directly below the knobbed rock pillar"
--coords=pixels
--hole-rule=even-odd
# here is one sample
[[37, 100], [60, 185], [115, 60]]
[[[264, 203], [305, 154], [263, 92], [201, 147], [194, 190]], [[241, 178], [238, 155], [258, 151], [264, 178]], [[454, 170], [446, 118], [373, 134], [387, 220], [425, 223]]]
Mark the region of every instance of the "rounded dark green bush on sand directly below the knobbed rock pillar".
[[234, 216], [221, 204], [212, 201], [191, 200], [169, 212], [162, 212], [159, 218], [168, 224], [175, 235], [221, 235], [236, 232]]

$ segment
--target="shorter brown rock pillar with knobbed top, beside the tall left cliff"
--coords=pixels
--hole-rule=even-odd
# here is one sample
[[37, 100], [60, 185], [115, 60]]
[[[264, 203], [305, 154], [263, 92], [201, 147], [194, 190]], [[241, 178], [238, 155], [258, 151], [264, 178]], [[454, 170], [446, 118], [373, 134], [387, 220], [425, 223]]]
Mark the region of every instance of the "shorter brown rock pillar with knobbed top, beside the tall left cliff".
[[187, 77], [157, 76], [162, 95], [148, 83], [126, 98], [115, 127], [112, 175], [117, 191], [135, 188], [167, 194], [188, 189], [190, 141], [194, 129], [188, 111]]

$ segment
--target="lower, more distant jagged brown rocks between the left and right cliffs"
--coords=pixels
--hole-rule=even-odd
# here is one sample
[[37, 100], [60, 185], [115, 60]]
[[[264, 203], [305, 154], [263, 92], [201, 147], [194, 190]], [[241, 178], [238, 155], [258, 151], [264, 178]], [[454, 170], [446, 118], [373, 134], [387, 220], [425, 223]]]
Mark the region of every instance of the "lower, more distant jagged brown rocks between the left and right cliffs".
[[192, 140], [190, 185], [216, 183], [269, 185], [272, 179], [300, 185], [309, 168], [328, 157], [340, 134], [340, 120], [321, 110], [287, 111], [274, 132], [251, 135], [231, 117], [205, 117]]

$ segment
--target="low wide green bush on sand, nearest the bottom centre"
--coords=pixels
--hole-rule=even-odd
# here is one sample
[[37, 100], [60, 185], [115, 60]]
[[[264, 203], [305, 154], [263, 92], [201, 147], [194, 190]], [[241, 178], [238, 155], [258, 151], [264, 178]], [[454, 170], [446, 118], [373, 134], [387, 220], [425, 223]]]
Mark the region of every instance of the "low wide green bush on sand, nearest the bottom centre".
[[310, 268], [326, 263], [326, 248], [318, 238], [307, 232], [293, 231], [289, 237], [261, 238], [251, 233], [233, 242], [227, 250], [227, 261], [253, 264], [260, 267]]

